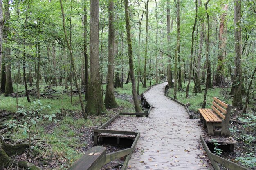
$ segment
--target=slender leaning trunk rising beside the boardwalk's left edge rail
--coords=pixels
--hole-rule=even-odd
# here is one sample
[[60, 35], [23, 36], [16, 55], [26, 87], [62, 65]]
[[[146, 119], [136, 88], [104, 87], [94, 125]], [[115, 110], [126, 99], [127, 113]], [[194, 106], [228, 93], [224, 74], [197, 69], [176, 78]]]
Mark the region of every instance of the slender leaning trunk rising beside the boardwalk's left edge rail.
[[134, 68], [133, 68], [133, 56], [132, 56], [132, 40], [130, 34], [130, 16], [128, 8], [128, 0], [124, 0], [124, 11], [125, 11], [125, 21], [126, 21], [126, 35], [127, 35], [127, 45], [128, 45], [128, 56], [129, 56], [129, 67], [130, 67], [130, 77], [132, 80], [132, 96], [136, 112], [141, 112], [139, 105], [138, 96], [136, 93], [136, 82], [134, 77]]

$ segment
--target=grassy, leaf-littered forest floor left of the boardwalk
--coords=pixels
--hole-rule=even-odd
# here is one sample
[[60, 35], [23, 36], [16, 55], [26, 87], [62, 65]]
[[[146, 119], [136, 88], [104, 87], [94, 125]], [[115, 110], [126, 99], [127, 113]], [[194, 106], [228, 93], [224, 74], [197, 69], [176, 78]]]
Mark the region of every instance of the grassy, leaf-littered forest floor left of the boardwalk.
[[[47, 84], [40, 84], [46, 87]], [[115, 89], [116, 101], [119, 108], [108, 109], [103, 116], [88, 116], [83, 119], [80, 111], [79, 97], [74, 89], [73, 101], [70, 103], [70, 91], [65, 91], [65, 86], [52, 86], [51, 90], [41, 89], [40, 101], [32, 87], [30, 91], [30, 104], [19, 93], [18, 112], [16, 97], [0, 96], [0, 135], [9, 144], [29, 142], [34, 145], [22, 155], [15, 156], [19, 161], [28, 161], [44, 170], [64, 170], [74, 161], [79, 159], [93, 146], [93, 129], [101, 126], [117, 112], [134, 112], [131, 84], [124, 84], [124, 88]], [[106, 89], [106, 85], [103, 85]], [[23, 91], [22, 86], [19, 91]], [[146, 88], [139, 88], [140, 92]], [[14, 89], [16, 91], [16, 89]], [[83, 98], [85, 96], [83, 95]], [[104, 96], [103, 96], [104, 97]], [[86, 102], [84, 103], [86, 104]], [[34, 114], [35, 113], [35, 114]], [[32, 126], [31, 126], [32, 125]], [[107, 152], [122, 150], [122, 146], [103, 145]], [[102, 170], [118, 170], [123, 159], [118, 159], [106, 164]], [[14, 168], [6, 168], [5, 170]], [[17, 169], [15, 167], [15, 169]]]

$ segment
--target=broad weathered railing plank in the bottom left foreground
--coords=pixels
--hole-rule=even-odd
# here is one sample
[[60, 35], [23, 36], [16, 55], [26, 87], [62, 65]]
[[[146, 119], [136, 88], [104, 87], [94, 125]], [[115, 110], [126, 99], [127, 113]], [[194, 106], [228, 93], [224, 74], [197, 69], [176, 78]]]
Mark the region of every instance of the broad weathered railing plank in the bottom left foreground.
[[106, 161], [106, 148], [95, 146], [70, 166], [67, 170], [99, 170]]

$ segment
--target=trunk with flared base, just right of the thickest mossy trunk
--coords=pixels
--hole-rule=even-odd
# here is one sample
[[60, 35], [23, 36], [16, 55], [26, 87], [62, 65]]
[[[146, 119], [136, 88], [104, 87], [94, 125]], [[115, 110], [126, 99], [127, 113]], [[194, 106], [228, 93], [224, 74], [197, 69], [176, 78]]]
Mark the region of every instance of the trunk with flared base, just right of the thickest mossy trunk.
[[109, 0], [108, 3], [108, 73], [104, 105], [106, 108], [117, 108], [113, 84], [115, 53], [114, 1]]

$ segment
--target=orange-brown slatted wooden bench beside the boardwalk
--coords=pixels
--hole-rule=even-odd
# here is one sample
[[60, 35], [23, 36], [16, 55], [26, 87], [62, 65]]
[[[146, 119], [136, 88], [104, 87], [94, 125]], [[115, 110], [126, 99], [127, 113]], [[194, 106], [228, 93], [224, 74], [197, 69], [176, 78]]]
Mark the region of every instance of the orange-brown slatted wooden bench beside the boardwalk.
[[[198, 109], [204, 127], [207, 126], [208, 134], [211, 136], [230, 136], [228, 125], [232, 106], [225, 104], [216, 97], [213, 97], [212, 104], [212, 110]], [[221, 131], [215, 130], [216, 127], [221, 128]]]

